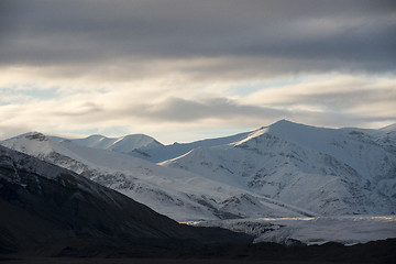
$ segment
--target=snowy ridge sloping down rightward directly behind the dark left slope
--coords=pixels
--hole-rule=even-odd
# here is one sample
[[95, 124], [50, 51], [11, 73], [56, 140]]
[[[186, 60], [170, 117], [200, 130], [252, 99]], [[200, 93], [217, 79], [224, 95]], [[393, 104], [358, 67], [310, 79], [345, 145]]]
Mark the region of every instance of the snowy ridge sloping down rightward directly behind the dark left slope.
[[28, 133], [1, 143], [116, 189], [177, 221], [312, 216], [198, 174], [168, 168], [113, 151]]

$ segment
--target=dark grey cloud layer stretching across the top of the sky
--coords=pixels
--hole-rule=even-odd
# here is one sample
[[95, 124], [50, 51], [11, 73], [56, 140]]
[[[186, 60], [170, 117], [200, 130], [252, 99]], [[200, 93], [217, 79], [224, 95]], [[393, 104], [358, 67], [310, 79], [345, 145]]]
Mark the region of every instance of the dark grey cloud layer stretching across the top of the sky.
[[[228, 64], [249, 62], [263, 70], [274, 63], [275, 74], [394, 72], [395, 7], [391, 0], [6, 0], [0, 62], [89, 68], [221, 57], [223, 67], [189, 70], [227, 74]], [[316, 24], [320, 19], [338, 25], [328, 30]]]

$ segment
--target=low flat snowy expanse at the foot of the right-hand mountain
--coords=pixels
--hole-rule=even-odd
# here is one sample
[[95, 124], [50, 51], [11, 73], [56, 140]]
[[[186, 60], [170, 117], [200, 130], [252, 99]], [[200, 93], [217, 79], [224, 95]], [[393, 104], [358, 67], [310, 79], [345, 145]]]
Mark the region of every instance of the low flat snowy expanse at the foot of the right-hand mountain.
[[254, 242], [305, 244], [339, 242], [345, 245], [396, 238], [396, 216], [349, 216], [317, 218], [262, 218], [189, 222], [199, 227], [221, 227], [254, 235]]

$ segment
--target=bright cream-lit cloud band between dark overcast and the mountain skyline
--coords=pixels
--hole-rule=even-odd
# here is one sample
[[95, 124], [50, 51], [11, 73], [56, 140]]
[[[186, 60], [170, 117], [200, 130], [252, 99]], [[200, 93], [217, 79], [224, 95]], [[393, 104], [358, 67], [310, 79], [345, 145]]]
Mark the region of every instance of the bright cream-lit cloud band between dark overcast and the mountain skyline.
[[[52, 98], [31, 97], [0, 106], [3, 120], [0, 136], [11, 135], [11, 131], [14, 135], [32, 130], [109, 133], [118, 128], [123, 132], [147, 133], [166, 143], [193, 140], [191, 134], [197, 131], [242, 132], [279, 119], [333, 128], [380, 128], [396, 122], [395, 81], [345, 75], [310, 76], [299, 82], [258, 88], [239, 96], [227, 95], [227, 85], [221, 88], [220, 84], [220, 94], [211, 94], [209, 87], [205, 95], [191, 96], [191, 87], [177, 90], [173, 84], [164, 82], [164, 89], [169, 92], [161, 94], [154, 88], [147, 89], [150, 84], [136, 82], [136, 89], [124, 86]], [[180, 131], [191, 134], [175, 138]]]

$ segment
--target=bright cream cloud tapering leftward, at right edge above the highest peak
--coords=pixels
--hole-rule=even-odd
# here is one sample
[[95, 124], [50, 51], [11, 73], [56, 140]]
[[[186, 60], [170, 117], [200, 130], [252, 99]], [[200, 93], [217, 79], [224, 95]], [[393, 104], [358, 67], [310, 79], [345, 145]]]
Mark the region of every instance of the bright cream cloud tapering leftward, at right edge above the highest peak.
[[245, 98], [245, 103], [265, 106], [310, 106], [321, 111], [360, 112], [367, 117], [382, 112], [393, 118], [396, 102], [396, 78], [328, 75], [300, 84], [266, 88]]

